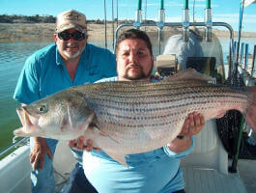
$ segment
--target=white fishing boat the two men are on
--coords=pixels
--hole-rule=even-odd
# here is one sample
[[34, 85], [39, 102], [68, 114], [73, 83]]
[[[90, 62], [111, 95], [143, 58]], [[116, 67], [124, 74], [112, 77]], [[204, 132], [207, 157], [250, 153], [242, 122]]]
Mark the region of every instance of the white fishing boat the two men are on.
[[[246, 62], [246, 59], [242, 60], [243, 54], [237, 55], [236, 57], [236, 53], [239, 53], [240, 50], [240, 41], [235, 43], [232, 27], [228, 23], [213, 22], [210, 0], [207, 1], [205, 22], [189, 22], [188, 1], [185, 1], [183, 22], [165, 22], [163, 1], [161, 1], [161, 6], [158, 12], [158, 20], [154, 23], [142, 22], [141, 1], [139, 0], [138, 2], [139, 6], [135, 12], [134, 22], [120, 24], [116, 29], [115, 36], [117, 38], [123, 27], [156, 27], [158, 30], [159, 40], [159, 55], [156, 57], [157, 72], [160, 74], [163, 71], [175, 73], [178, 69], [175, 55], [166, 56], [160, 54], [160, 39], [164, 31], [164, 27], [180, 27], [182, 29], [181, 32], [184, 36], [184, 41], [188, 41], [190, 27], [202, 27], [206, 32], [206, 41], [201, 43], [204, 48], [204, 57], [199, 59], [191, 58], [190, 62], [199, 61], [199, 64], [204, 64], [206, 68], [202, 72], [211, 75], [213, 74], [212, 72], [216, 72], [211, 71], [215, 70], [212, 67], [211, 62], [214, 58], [213, 64], [215, 65], [218, 63], [217, 66], [219, 69], [217, 69], [217, 71], [221, 75], [220, 81], [224, 81], [228, 77], [231, 77], [234, 71], [239, 71], [242, 74], [242, 78], [244, 80], [246, 79], [247, 85], [255, 85], [255, 49], [250, 62], [250, 68], [248, 68], [248, 65], [243, 62]], [[255, 3], [256, 1], [247, 0], [244, 2], [245, 3], [242, 4], [242, 8], [244, 8], [245, 5], [248, 6], [250, 3]], [[224, 64], [221, 47], [219, 49], [217, 38], [213, 36], [213, 27], [215, 26], [227, 28], [230, 34], [230, 53], [227, 64]], [[238, 48], [238, 51], [236, 51], [236, 48]], [[246, 53], [244, 55], [246, 55]], [[193, 67], [196, 68], [196, 65]], [[247, 129], [250, 130], [249, 128]], [[238, 147], [239, 145], [240, 142], [238, 141]], [[17, 140], [12, 146], [2, 151], [1, 154], [9, 152], [11, 149], [14, 149], [14, 152], [10, 153], [0, 161], [0, 192], [29, 193], [31, 192], [31, 166], [29, 163], [30, 148], [28, 139], [21, 138]], [[64, 154], [61, 152], [66, 153]], [[207, 122], [204, 129], [196, 135], [193, 151], [183, 159], [181, 164], [184, 170], [185, 191], [187, 193], [255, 192], [256, 185], [253, 183], [255, 183], [256, 177], [256, 161], [246, 159], [239, 160], [238, 153], [239, 152], [237, 152], [233, 159], [231, 159], [217, 132], [216, 120]], [[66, 161], [64, 162], [62, 160]], [[56, 192], [59, 192], [62, 186], [69, 180], [69, 174], [71, 173], [74, 164], [75, 159], [69, 151], [68, 143], [60, 141], [53, 159]], [[248, 179], [254, 179], [252, 180], [253, 183], [248, 182]]]

